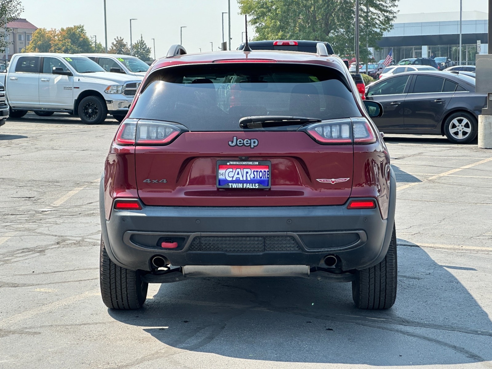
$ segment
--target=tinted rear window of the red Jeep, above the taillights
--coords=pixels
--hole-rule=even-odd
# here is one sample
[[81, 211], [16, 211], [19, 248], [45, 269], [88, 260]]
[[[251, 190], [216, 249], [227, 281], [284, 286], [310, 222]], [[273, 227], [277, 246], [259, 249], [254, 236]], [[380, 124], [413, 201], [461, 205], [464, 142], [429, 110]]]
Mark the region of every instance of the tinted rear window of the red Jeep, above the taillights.
[[239, 120], [250, 116], [360, 117], [349, 86], [336, 69], [315, 65], [175, 66], [154, 72], [130, 117], [181, 123], [191, 131], [239, 131]]

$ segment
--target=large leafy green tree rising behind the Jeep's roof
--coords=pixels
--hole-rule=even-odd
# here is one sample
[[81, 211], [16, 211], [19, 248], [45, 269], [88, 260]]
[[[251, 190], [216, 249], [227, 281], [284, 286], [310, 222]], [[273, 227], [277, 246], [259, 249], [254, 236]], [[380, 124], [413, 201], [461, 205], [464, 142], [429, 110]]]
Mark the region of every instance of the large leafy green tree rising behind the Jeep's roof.
[[[384, 32], [393, 29], [398, 0], [360, 0], [360, 56], [369, 57]], [[238, 0], [249, 16], [256, 40], [298, 39], [328, 41], [335, 53], [354, 55], [355, 0]], [[367, 11], [369, 6], [369, 11]]]

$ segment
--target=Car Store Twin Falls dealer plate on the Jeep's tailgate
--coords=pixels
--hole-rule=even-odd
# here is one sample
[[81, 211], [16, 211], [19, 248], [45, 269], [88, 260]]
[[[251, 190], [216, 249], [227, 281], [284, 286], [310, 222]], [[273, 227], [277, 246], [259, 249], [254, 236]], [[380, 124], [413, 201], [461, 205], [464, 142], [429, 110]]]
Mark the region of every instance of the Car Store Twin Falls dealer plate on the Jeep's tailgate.
[[217, 188], [270, 188], [270, 161], [217, 160]]

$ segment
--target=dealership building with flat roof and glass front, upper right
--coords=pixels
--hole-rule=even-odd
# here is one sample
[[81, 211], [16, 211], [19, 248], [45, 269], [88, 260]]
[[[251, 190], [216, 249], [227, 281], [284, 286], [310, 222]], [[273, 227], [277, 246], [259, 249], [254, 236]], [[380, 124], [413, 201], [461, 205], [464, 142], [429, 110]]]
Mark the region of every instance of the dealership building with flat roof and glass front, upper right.
[[[488, 18], [487, 12], [462, 12], [463, 64], [475, 64], [477, 54], [488, 54]], [[393, 49], [396, 62], [406, 58], [430, 57], [431, 53], [436, 57], [459, 61], [460, 12], [398, 14], [393, 26], [394, 29], [386, 32], [378, 42], [380, 49], [371, 48], [375, 60], [385, 59]]]

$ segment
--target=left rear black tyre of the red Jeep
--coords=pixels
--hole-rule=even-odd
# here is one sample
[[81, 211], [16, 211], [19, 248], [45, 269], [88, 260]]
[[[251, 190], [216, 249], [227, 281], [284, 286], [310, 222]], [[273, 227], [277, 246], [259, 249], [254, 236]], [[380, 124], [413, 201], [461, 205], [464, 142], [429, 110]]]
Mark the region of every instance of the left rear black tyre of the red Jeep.
[[99, 279], [104, 305], [110, 309], [138, 309], [147, 298], [149, 283], [142, 281], [140, 271], [122, 268], [111, 261], [101, 238]]

